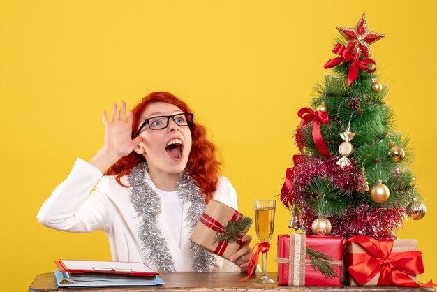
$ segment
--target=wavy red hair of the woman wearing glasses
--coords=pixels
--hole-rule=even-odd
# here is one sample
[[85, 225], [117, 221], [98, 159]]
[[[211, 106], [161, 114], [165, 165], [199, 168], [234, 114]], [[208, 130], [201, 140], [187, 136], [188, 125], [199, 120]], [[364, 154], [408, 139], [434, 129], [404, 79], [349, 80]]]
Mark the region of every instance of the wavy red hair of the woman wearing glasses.
[[[132, 110], [132, 139], [135, 138], [135, 133], [140, 126], [142, 113], [145, 112], [147, 106], [157, 101], [176, 105], [182, 112], [191, 112], [191, 109], [188, 108], [184, 101], [170, 94], [170, 92], [152, 92], [145, 98], [142, 98], [142, 101]], [[215, 156], [216, 147], [207, 140], [205, 127], [196, 123], [194, 119], [193, 124], [190, 126], [190, 131], [193, 142], [186, 168], [188, 168], [191, 177], [193, 177], [193, 180], [195, 180], [202, 192], [207, 195], [205, 200], [208, 203], [214, 191], [217, 190], [220, 162]], [[144, 156], [133, 151], [131, 154], [121, 157], [113, 166], [106, 170], [105, 175], [117, 175], [117, 182], [122, 187], [128, 187], [121, 182], [121, 177], [131, 173], [131, 169], [142, 161], [145, 161]]]

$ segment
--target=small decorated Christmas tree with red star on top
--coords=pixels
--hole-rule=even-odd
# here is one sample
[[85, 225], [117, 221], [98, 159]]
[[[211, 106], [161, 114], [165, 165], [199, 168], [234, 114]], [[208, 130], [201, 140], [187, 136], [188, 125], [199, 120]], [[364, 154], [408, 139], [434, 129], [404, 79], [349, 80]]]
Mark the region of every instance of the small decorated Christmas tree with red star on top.
[[336, 29], [339, 57], [325, 64], [334, 74], [298, 112], [301, 154], [287, 169], [281, 202], [292, 210], [290, 227], [307, 234], [396, 238], [407, 215], [422, 219], [426, 210], [408, 169], [408, 139], [394, 132], [388, 89], [370, 56], [369, 45], [385, 35], [367, 29], [365, 14], [355, 27]]

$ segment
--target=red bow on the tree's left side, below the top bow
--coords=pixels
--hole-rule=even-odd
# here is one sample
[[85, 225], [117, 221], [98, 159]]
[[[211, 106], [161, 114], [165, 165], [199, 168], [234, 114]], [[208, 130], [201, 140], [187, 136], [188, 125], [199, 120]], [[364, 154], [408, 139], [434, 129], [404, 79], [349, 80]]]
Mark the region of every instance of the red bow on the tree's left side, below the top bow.
[[305, 126], [309, 122], [313, 121], [313, 140], [316, 144], [318, 152], [320, 152], [320, 154], [325, 157], [330, 157], [331, 153], [329, 153], [329, 150], [327, 149], [325, 142], [323, 141], [319, 125], [319, 122], [322, 124], [327, 124], [329, 122], [329, 117], [327, 113], [321, 110], [314, 112], [313, 110], [311, 110], [311, 108], [301, 108], [297, 112], [297, 115], [302, 119], [296, 132], [296, 142], [297, 146], [300, 149], [300, 152], [303, 152], [304, 148], [304, 137], [302, 136], [300, 129], [302, 128], [302, 126]]

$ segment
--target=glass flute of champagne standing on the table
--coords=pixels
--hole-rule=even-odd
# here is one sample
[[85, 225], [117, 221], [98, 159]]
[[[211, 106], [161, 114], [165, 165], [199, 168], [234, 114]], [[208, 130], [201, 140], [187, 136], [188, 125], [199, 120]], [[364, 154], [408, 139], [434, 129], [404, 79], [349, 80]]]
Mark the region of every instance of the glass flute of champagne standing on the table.
[[[276, 200], [255, 200], [256, 235], [261, 242], [269, 242], [273, 236]], [[253, 282], [274, 283], [267, 277], [267, 251], [262, 253], [262, 276]]]

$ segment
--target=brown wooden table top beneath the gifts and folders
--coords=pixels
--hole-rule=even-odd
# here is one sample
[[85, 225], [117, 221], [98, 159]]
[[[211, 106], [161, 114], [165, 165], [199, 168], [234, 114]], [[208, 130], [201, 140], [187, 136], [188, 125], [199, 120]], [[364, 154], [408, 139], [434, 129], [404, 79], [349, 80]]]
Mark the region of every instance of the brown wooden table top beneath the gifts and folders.
[[[276, 272], [267, 273], [270, 278], [276, 279]], [[349, 291], [435, 291], [434, 288], [408, 288], [394, 286], [340, 286], [340, 287], [314, 287], [314, 286], [280, 286], [279, 284], [258, 284], [246, 280], [239, 282], [245, 274], [239, 272], [170, 272], [161, 273], [160, 277], [165, 284], [159, 287], [129, 287], [129, 288], [57, 288], [52, 272], [36, 276], [34, 282], [29, 287], [29, 292], [47, 291], [329, 291], [329, 292], [349, 292]]]

